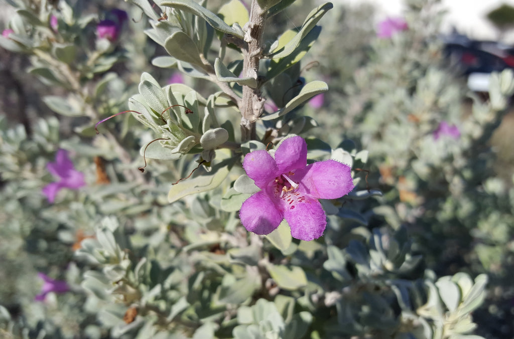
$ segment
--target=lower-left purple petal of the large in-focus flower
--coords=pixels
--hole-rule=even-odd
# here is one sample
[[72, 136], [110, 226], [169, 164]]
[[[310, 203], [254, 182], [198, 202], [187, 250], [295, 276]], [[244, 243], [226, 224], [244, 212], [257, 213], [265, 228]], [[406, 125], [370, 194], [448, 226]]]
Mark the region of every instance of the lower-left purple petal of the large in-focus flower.
[[[255, 153], [255, 152], [253, 152]], [[279, 227], [284, 215], [265, 191], [260, 191], [243, 202], [239, 217], [243, 226], [256, 234], [269, 234]]]

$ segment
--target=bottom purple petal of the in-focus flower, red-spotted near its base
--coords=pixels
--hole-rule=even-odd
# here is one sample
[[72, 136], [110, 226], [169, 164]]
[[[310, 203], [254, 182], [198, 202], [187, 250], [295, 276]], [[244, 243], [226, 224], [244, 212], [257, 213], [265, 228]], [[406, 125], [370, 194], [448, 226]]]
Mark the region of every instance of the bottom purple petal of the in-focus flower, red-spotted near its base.
[[325, 231], [325, 211], [316, 199], [307, 199], [292, 210], [286, 209], [284, 216], [293, 238], [309, 241], [321, 237]]

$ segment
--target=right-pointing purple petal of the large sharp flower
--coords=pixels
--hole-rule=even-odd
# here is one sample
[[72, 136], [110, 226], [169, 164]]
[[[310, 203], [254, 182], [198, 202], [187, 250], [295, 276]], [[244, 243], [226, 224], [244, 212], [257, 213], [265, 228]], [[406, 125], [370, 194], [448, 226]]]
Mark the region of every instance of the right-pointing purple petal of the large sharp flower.
[[335, 160], [325, 160], [308, 165], [295, 173], [299, 192], [318, 199], [337, 199], [354, 189], [352, 169]]

